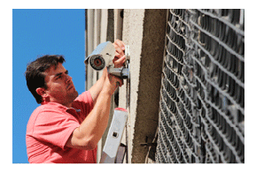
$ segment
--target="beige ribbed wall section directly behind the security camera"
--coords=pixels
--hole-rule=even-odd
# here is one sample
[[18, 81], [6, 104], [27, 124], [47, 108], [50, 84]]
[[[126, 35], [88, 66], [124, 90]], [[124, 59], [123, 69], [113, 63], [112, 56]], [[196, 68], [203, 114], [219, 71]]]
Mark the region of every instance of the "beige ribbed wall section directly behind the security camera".
[[[106, 39], [113, 39], [113, 22], [111, 10], [107, 9], [89, 9], [86, 11], [87, 31], [86, 31], [86, 56], [97, 48], [97, 45], [107, 41]], [[108, 22], [110, 20], [110, 22]], [[94, 71], [89, 65], [86, 66], [86, 90], [93, 86], [97, 79], [102, 75], [102, 71]], [[106, 128], [105, 134], [97, 145], [97, 161], [100, 160], [102, 149], [105, 145], [105, 139], [110, 123], [112, 121], [112, 114], [114, 105], [114, 97], [112, 96], [112, 104], [110, 109], [109, 123]]]

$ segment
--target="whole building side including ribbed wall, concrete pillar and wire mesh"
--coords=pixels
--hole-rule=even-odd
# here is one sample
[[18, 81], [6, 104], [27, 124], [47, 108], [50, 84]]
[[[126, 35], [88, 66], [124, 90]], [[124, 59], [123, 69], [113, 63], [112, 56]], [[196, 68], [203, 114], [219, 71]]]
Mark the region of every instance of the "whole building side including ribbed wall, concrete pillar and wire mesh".
[[[86, 23], [87, 56], [130, 46], [110, 113], [128, 109], [124, 163], [244, 163], [244, 10], [90, 9]], [[101, 73], [86, 70], [89, 89]]]

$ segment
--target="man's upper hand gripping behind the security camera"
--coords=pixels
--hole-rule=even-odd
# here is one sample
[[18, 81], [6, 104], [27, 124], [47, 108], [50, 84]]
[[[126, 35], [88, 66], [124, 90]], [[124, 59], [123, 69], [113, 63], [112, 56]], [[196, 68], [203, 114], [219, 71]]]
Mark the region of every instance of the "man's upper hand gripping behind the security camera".
[[126, 56], [124, 54], [125, 44], [120, 40], [116, 40], [112, 44], [115, 48], [115, 56], [112, 60], [112, 63], [114, 64], [114, 67], [120, 68], [126, 61]]

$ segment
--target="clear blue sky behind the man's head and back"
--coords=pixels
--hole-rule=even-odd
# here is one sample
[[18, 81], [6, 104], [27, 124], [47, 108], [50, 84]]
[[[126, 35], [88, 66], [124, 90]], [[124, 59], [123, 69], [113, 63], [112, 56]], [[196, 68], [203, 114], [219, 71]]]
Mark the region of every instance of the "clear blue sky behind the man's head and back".
[[64, 55], [78, 93], [85, 90], [84, 10], [12, 10], [12, 163], [28, 163], [26, 130], [39, 105], [28, 91], [27, 63], [43, 55]]

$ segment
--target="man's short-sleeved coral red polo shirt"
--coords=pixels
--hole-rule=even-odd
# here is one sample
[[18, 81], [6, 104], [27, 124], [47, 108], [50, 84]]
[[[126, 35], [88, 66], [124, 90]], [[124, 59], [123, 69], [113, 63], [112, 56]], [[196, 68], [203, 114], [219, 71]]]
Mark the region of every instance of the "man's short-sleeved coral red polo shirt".
[[97, 148], [80, 150], [65, 146], [74, 129], [93, 108], [90, 93], [81, 93], [72, 107], [48, 102], [35, 108], [27, 123], [26, 144], [30, 163], [96, 163]]

